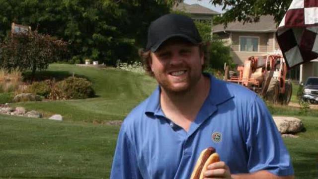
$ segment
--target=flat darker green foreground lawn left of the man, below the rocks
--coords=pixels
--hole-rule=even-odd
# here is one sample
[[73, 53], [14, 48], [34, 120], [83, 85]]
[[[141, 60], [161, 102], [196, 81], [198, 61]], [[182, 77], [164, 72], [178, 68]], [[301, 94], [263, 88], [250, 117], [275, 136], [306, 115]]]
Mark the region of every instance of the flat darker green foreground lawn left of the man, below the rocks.
[[0, 115], [0, 179], [108, 179], [118, 131]]

